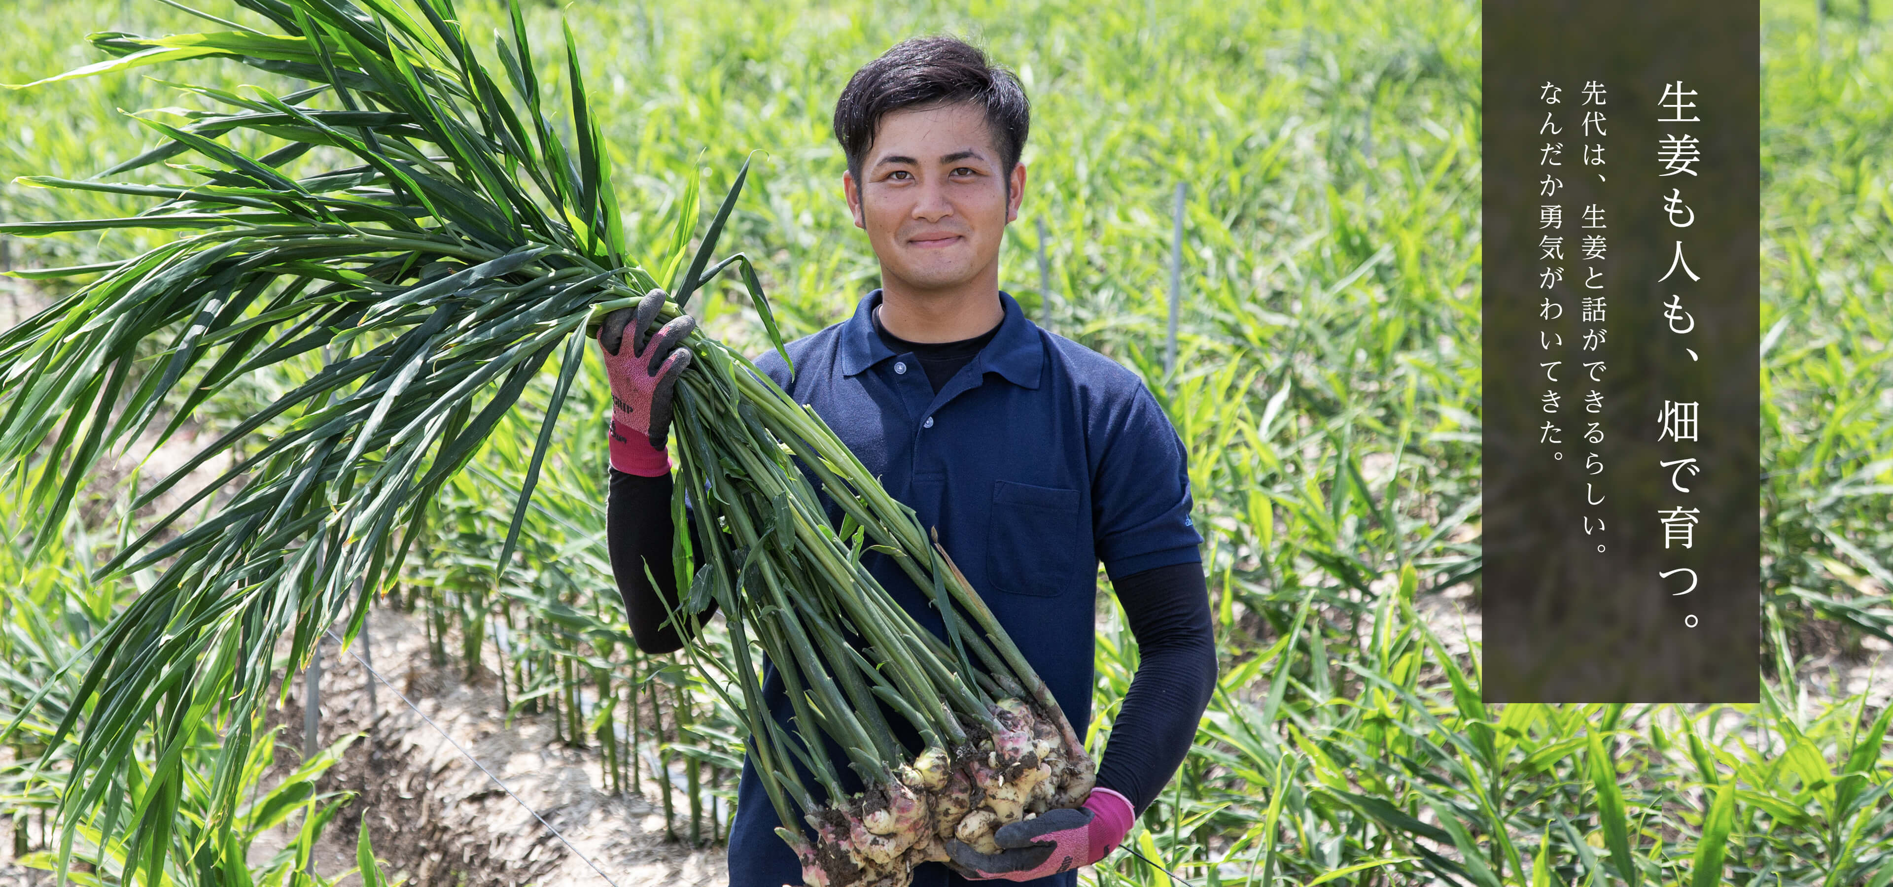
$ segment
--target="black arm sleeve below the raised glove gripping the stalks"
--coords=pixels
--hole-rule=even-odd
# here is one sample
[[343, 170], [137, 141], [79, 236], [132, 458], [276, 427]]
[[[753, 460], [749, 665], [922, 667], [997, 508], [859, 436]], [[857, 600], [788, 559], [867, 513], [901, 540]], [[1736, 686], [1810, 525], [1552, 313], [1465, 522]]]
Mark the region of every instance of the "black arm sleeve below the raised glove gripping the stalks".
[[[606, 548], [611, 552], [611, 575], [617, 577], [617, 594], [625, 598], [625, 618], [630, 620], [630, 635], [644, 652], [672, 652], [683, 647], [674, 626], [666, 626], [670, 607], [678, 605], [678, 575], [670, 560], [670, 543], [676, 535], [670, 524], [670, 473], [659, 477], [627, 475], [611, 471], [611, 494], [606, 503]], [[691, 511], [685, 507], [685, 516]], [[702, 537], [697, 522], [689, 520], [691, 533], [691, 571], [702, 564]], [[644, 565], [651, 565], [657, 588], [644, 575]], [[663, 598], [659, 598], [659, 594]], [[704, 609], [702, 618], [716, 615], [716, 600]]]

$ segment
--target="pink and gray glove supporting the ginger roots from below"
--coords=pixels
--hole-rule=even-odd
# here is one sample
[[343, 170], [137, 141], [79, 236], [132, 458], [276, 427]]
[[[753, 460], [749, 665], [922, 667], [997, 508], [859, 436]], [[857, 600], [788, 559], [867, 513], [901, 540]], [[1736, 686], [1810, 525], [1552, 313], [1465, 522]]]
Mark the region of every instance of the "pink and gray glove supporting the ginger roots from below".
[[981, 853], [948, 840], [948, 862], [964, 878], [1030, 881], [1088, 866], [1123, 844], [1136, 813], [1130, 800], [1111, 789], [1092, 789], [1077, 809], [1047, 809], [1037, 819], [1001, 825], [992, 834], [1000, 853]]

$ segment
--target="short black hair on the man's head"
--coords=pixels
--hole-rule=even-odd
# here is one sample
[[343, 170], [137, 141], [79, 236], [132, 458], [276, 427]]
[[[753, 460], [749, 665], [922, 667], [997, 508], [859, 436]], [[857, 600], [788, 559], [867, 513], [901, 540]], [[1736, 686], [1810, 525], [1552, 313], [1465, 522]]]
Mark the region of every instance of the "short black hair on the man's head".
[[848, 172], [861, 180], [875, 129], [888, 112], [950, 102], [986, 110], [986, 129], [1011, 197], [1011, 172], [1026, 149], [1032, 104], [1011, 70], [986, 62], [986, 53], [954, 36], [903, 40], [848, 78], [835, 100], [835, 140], [848, 155]]

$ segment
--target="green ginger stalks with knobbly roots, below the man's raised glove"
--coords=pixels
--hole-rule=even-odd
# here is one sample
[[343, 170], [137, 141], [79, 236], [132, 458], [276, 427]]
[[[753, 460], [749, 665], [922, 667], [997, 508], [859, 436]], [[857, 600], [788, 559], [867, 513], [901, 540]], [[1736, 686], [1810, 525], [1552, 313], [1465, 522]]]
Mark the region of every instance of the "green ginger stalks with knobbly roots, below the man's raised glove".
[[[725, 365], [727, 352], [706, 354], [712, 367]], [[912, 866], [948, 859], [948, 840], [990, 853], [1001, 825], [1083, 804], [1096, 775], [1083, 743], [912, 509], [752, 367], [685, 373], [678, 391], [672, 513], [695, 516], [708, 550], [674, 535], [678, 588], [689, 596], [672, 618], [685, 628], [691, 662], [742, 713], [748, 753], [805, 883], [905, 885]], [[842, 513], [839, 528], [810, 477]], [[702, 490], [691, 509], [685, 490]], [[916, 624], [861, 565], [869, 548], [929, 592], [945, 637]], [[693, 556], [702, 567], [689, 575]], [[710, 600], [725, 615], [717, 645], [693, 617]], [[787, 726], [761, 702], [752, 645], [787, 690]], [[918, 749], [895, 738], [895, 721], [920, 738]], [[823, 739], [842, 751], [840, 764]], [[844, 791], [839, 766], [863, 789]]]

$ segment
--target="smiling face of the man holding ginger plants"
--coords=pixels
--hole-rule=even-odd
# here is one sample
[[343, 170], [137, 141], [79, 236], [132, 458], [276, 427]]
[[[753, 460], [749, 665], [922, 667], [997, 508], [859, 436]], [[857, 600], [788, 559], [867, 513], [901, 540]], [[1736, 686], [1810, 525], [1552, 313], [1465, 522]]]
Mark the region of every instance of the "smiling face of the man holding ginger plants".
[[880, 257], [884, 286], [939, 293], [998, 280], [1000, 240], [1026, 187], [1026, 165], [1001, 170], [1000, 163], [986, 113], [973, 102], [880, 119], [861, 180], [844, 172], [842, 189], [854, 225]]

